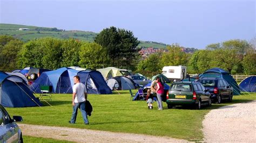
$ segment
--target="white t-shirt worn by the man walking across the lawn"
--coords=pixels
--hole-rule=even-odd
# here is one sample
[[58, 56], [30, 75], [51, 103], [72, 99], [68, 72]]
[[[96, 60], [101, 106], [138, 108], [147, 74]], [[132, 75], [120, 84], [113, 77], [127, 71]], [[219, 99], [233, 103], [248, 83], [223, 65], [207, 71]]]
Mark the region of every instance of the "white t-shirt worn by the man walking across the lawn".
[[80, 103], [80, 102], [85, 102], [86, 99], [84, 97], [84, 93], [86, 93], [86, 87], [83, 83], [76, 83], [75, 85], [73, 85], [73, 93], [76, 93], [76, 97], [75, 97], [75, 103]]

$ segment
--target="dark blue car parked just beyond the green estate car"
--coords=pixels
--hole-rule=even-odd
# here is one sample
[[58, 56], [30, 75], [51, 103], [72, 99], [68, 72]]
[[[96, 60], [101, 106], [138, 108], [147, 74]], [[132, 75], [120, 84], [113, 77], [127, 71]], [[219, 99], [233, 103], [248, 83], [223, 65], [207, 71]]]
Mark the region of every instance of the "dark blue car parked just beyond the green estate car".
[[233, 88], [224, 78], [204, 77], [198, 80], [198, 82], [202, 83], [211, 93], [212, 102], [221, 103], [225, 99], [232, 102]]

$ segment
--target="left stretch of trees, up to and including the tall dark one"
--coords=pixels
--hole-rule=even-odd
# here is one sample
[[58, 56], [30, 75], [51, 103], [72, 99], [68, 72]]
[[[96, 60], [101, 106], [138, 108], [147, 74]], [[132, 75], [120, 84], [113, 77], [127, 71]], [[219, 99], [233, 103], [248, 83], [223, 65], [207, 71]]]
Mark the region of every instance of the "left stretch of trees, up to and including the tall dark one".
[[116, 27], [105, 28], [94, 42], [48, 37], [24, 43], [0, 35], [0, 70], [69, 66], [91, 69], [114, 66], [135, 70], [140, 50], [138, 44], [131, 31]]

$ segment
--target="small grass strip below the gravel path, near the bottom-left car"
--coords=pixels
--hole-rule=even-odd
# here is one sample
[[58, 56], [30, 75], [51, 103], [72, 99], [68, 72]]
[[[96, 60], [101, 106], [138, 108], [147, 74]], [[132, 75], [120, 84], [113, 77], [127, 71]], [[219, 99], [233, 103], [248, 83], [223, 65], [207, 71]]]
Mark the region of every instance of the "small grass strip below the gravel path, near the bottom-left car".
[[56, 140], [51, 138], [39, 138], [23, 135], [23, 142], [72, 142], [66, 140]]

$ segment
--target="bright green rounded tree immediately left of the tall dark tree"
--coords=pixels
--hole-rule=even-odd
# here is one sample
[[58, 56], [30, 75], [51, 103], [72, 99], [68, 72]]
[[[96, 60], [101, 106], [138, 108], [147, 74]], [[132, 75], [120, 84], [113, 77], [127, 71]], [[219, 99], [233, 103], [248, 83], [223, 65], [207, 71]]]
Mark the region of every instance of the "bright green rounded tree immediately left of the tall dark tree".
[[84, 68], [96, 69], [102, 66], [107, 66], [109, 56], [105, 48], [99, 44], [84, 43], [79, 52], [79, 66]]

